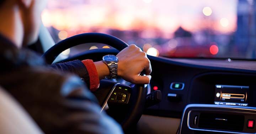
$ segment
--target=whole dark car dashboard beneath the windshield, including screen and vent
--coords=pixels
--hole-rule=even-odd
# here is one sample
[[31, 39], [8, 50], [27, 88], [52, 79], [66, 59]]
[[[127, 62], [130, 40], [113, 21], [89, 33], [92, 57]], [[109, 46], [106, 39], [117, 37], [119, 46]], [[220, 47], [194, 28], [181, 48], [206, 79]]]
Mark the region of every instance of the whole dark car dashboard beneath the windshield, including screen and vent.
[[[90, 50], [67, 61], [92, 57], [98, 61], [106, 54], [117, 53], [111, 49]], [[174, 125], [177, 128], [172, 129], [178, 129], [180, 134], [256, 133], [255, 61], [148, 58], [152, 66], [150, 90], [160, 90], [162, 101], [146, 108], [144, 116], [170, 118], [177, 123]], [[154, 125], [164, 125], [166, 130], [169, 126], [166, 123]], [[153, 127], [148, 130], [153, 132], [160, 128]]]

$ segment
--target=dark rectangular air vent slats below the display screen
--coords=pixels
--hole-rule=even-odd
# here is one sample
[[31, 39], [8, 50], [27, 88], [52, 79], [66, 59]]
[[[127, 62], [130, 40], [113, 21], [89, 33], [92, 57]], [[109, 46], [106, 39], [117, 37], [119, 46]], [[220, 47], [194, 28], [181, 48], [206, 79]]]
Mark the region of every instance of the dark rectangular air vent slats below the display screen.
[[220, 113], [201, 113], [198, 127], [219, 130], [242, 131], [245, 117], [242, 115], [228, 115]]

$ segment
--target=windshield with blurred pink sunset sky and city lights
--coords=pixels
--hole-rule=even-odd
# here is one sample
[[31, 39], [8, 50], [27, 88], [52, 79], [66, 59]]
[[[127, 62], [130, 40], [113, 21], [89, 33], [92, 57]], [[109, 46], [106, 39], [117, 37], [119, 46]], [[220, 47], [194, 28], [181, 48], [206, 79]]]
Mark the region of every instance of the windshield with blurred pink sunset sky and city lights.
[[55, 42], [99, 32], [152, 56], [255, 59], [255, 7], [255, 0], [49, 0], [42, 21]]

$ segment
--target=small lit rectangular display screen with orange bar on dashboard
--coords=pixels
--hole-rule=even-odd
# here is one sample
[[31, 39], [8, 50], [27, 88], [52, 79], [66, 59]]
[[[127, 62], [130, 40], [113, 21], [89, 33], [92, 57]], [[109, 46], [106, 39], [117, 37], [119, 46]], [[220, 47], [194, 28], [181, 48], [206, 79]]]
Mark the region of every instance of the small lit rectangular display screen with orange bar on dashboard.
[[248, 106], [249, 86], [215, 85], [214, 104]]

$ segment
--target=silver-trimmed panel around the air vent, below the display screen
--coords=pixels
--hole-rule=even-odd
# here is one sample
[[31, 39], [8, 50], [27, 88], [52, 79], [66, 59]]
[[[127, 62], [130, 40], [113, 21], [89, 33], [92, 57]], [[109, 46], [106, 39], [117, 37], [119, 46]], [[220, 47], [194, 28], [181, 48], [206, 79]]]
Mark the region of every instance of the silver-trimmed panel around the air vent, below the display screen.
[[180, 134], [256, 133], [256, 108], [234, 105], [187, 105]]

